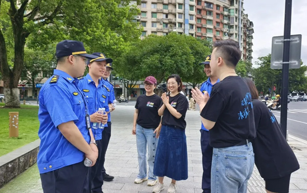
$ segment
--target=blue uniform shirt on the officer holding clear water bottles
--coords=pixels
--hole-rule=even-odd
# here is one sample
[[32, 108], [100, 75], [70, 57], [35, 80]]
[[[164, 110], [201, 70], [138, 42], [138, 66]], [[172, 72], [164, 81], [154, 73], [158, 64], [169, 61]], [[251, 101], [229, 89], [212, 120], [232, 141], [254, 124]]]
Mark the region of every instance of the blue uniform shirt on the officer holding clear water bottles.
[[[107, 90], [103, 86], [103, 82], [101, 80], [98, 80], [98, 86], [96, 87], [96, 84], [91, 78], [91, 76], [87, 74], [83, 79], [79, 81], [78, 86], [80, 90], [84, 93], [87, 101], [89, 102], [88, 106], [90, 115], [97, 112], [99, 108], [105, 108], [105, 111], [108, 111]], [[94, 123], [91, 122], [91, 128], [95, 140], [100, 140], [102, 138], [103, 129], [93, 129], [93, 124]], [[107, 127], [107, 125], [105, 125], [105, 127]]]

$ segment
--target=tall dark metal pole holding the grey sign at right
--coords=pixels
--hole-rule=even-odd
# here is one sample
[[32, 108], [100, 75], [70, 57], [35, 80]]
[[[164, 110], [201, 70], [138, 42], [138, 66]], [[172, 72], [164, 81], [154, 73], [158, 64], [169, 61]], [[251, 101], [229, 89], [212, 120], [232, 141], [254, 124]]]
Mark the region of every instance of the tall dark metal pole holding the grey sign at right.
[[283, 41], [281, 111], [280, 111], [280, 127], [285, 138], [287, 138], [291, 12], [292, 12], [292, 0], [286, 0], [286, 8], [284, 11], [284, 29], [283, 29], [283, 39], [286, 41]]

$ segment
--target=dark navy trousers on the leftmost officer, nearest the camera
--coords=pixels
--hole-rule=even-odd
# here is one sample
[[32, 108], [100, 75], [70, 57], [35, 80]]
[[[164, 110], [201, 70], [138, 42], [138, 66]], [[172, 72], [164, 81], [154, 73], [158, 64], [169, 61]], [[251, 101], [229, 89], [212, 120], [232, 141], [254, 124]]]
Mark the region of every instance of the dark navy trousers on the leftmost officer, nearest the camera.
[[89, 167], [83, 161], [40, 174], [44, 193], [88, 193]]

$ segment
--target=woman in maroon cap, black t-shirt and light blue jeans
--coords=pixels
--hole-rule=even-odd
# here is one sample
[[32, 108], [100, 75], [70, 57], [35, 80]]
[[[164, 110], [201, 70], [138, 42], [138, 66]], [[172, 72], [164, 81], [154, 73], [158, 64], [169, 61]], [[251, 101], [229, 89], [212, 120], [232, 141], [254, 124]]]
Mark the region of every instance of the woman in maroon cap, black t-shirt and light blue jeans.
[[[147, 185], [153, 186], [157, 183], [157, 177], [153, 175], [153, 163], [158, 143], [158, 136], [154, 131], [161, 129], [161, 116], [158, 114], [158, 109], [162, 104], [162, 99], [153, 92], [157, 86], [155, 77], [147, 77], [144, 86], [146, 94], [140, 95], [137, 99], [132, 130], [132, 134], [137, 138], [139, 161], [139, 174], [135, 183], [139, 184], [149, 179]], [[146, 147], [148, 147], [148, 159], [146, 159]], [[149, 166], [148, 177], [147, 163]]]

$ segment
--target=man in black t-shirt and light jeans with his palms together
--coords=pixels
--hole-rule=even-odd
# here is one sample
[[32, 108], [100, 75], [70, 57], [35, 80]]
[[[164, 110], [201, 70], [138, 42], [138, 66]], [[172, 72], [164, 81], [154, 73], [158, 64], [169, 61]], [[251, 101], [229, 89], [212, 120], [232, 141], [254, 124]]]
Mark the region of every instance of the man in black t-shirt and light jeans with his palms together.
[[216, 41], [211, 54], [211, 74], [221, 82], [203, 95], [192, 89], [201, 109], [204, 127], [209, 130], [213, 147], [211, 192], [247, 192], [252, 175], [254, 153], [250, 139], [255, 138], [251, 93], [244, 80], [235, 73], [241, 58], [238, 42]]

